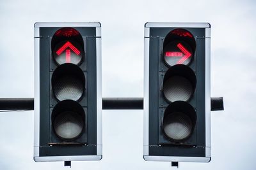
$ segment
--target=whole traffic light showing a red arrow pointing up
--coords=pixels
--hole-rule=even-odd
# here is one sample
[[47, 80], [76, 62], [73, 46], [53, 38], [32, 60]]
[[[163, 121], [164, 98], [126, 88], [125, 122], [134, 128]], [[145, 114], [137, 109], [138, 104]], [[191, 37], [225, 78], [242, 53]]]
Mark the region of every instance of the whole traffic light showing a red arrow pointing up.
[[36, 23], [34, 39], [34, 160], [100, 160], [100, 23]]

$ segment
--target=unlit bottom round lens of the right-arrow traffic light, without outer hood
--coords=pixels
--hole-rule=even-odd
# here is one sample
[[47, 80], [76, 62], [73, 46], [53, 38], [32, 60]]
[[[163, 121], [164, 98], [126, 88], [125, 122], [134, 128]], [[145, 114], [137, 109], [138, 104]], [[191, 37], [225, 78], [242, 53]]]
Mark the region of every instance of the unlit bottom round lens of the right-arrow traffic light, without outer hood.
[[191, 134], [193, 124], [186, 114], [175, 112], [164, 117], [163, 129], [168, 138], [182, 140]]

